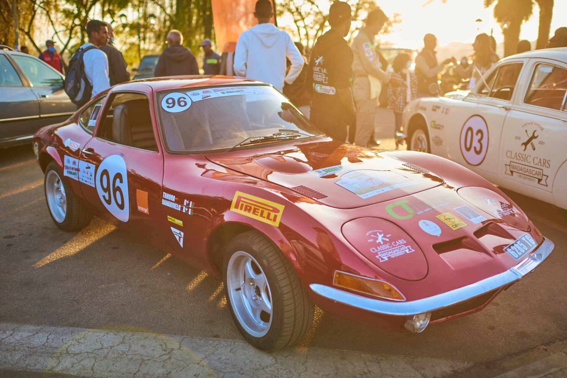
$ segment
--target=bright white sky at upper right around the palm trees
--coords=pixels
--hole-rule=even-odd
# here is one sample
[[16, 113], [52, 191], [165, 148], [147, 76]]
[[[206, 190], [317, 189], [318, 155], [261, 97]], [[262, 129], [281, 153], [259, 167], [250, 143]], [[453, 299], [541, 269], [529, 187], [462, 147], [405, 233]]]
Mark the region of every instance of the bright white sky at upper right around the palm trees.
[[[494, 38], [503, 42], [500, 25], [494, 21], [492, 7], [484, 8], [483, 0], [378, 0], [376, 3], [388, 15], [401, 14], [401, 23], [395, 25], [394, 31], [383, 40], [392, 42], [401, 48], [421, 49], [425, 33], [437, 36], [438, 44], [448, 45], [450, 42], [471, 43], [479, 33], [490, 34], [494, 29]], [[551, 32], [567, 26], [567, 0], [555, 0]], [[481, 19], [483, 22], [475, 22]], [[520, 38], [535, 41], [538, 38], [539, 7], [534, 6], [534, 14], [522, 25]]]

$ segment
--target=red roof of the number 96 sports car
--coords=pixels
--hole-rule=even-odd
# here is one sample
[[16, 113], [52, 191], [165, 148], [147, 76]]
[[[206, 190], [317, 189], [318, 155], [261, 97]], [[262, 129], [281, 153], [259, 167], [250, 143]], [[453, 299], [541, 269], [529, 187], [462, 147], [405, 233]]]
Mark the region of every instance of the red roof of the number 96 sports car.
[[[213, 87], [215, 85], [265, 84], [263, 81], [222, 75], [164, 76], [162, 78], [133, 80], [129, 81], [129, 83], [146, 84], [154, 89], [154, 91], [176, 88]], [[116, 85], [115, 91], [120, 90], [122, 85], [128, 85], [128, 83]]]

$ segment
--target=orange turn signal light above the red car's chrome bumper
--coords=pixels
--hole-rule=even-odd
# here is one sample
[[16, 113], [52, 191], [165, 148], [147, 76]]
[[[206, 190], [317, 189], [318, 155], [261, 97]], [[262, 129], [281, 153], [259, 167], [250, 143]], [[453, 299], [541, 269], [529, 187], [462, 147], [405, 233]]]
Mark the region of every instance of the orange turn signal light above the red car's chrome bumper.
[[358, 293], [372, 295], [373, 297], [400, 301], [405, 300], [404, 295], [395, 287], [388, 284], [388, 282], [361, 277], [352, 273], [340, 272], [339, 270], [335, 270], [333, 285], [357, 291]]

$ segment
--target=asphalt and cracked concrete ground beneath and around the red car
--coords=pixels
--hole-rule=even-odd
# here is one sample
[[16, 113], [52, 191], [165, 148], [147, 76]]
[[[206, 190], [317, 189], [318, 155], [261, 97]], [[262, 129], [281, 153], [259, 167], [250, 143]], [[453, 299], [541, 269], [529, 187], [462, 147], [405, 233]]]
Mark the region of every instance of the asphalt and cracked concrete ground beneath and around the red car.
[[421, 334], [318, 311], [298, 346], [264, 353], [200, 269], [97, 218], [58, 230], [42, 177], [29, 146], [0, 150], [0, 376], [493, 377], [567, 341], [567, 213], [510, 191], [556, 248], [483, 311]]

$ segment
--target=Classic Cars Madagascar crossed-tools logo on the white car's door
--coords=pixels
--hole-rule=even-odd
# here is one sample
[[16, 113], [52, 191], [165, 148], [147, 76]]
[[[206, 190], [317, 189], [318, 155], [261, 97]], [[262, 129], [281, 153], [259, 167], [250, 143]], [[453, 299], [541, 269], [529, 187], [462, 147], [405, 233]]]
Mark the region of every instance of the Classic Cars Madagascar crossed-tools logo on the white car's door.
[[540, 152], [543, 152], [544, 148], [537, 148], [545, 145], [545, 142], [540, 140], [543, 127], [538, 122], [531, 121], [524, 123], [522, 130], [523, 132], [514, 137], [518, 141], [518, 150], [506, 151], [506, 158], [510, 160], [504, 165], [504, 173], [547, 186], [549, 175], [545, 174], [545, 169], [551, 167], [551, 159], [541, 157]]

